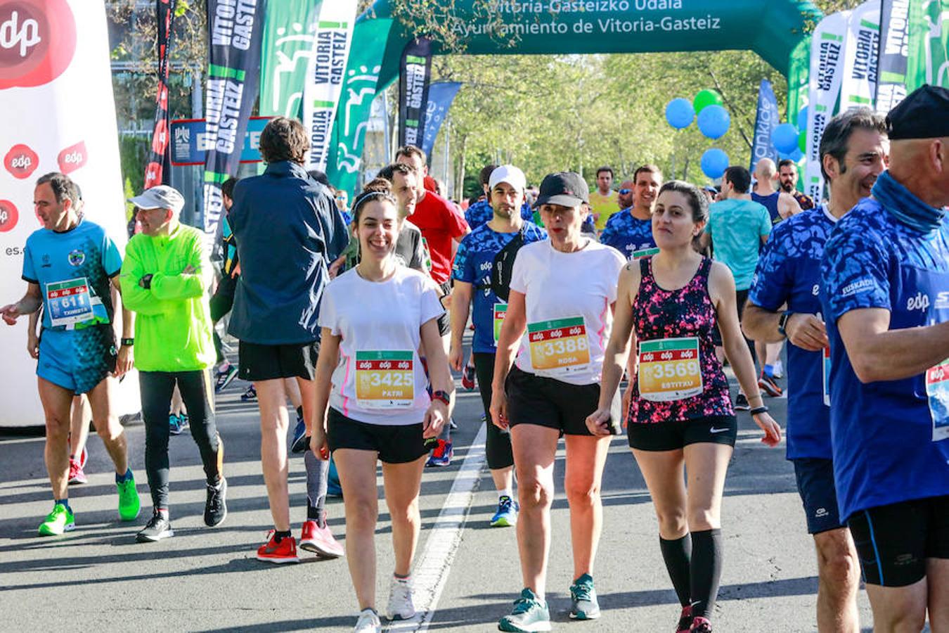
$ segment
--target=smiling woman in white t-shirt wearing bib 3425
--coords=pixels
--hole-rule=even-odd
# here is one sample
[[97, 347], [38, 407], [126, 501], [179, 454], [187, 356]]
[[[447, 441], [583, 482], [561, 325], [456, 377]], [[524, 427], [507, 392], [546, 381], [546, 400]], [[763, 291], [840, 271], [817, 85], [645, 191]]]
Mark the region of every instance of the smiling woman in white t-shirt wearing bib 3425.
[[[382, 462], [392, 516], [396, 568], [386, 615], [415, 615], [410, 571], [419, 540], [419, 485], [428, 454], [449, 419], [454, 382], [438, 335], [444, 312], [418, 270], [400, 265], [396, 200], [368, 191], [353, 201], [362, 259], [334, 279], [320, 306], [322, 344], [316, 368], [316, 419], [310, 447], [333, 452], [343, 484], [346, 555], [361, 613], [357, 631], [379, 631], [375, 610], [376, 462]], [[428, 352], [426, 392], [419, 344]]]

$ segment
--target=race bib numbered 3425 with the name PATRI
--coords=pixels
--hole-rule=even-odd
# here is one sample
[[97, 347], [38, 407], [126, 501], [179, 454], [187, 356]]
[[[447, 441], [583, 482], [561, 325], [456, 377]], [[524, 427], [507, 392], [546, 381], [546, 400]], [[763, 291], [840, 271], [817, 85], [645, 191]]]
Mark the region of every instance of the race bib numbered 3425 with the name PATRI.
[[365, 409], [411, 407], [415, 402], [412, 352], [356, 352], [356, 402]]

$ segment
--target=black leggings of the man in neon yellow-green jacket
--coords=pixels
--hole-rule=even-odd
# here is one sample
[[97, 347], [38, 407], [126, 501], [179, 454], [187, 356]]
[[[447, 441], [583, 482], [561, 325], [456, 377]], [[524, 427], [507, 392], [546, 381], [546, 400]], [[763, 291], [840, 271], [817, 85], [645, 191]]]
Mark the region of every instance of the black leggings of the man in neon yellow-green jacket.
[[209, 484], [217, 482], [221, 472], [217, 451], [217, 427], [214, 424], [214, 387], [208, 371], [140, 371], [141, 414], [145, 419], [145, 472], [152, 492], [152, 504], [168, 508], [168, 411], [177, 382], [181, 400], [188, 409], [191, 437], [195, 438], [204, 475]]

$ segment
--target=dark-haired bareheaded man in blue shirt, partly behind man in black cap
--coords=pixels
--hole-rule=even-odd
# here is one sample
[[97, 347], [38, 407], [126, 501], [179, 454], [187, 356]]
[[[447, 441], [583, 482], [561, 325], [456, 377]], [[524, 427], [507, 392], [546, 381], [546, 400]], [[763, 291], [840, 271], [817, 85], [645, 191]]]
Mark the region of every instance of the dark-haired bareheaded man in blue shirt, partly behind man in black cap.
[[[758, 260], [742, 327], [757, 342], [788, 339], [788, 459], [817, 549], [817, 628], [859, 631], [857, 551], [837, 512], [825, 381], [827, 332], [819, 297], [821, 258], [837, 220], [884, 171], [883, 117], [849, 110], [828, 123], [821, 165], [830, 198], [774, 227]], [[783, 308], [784, 307], [784, 308]]]

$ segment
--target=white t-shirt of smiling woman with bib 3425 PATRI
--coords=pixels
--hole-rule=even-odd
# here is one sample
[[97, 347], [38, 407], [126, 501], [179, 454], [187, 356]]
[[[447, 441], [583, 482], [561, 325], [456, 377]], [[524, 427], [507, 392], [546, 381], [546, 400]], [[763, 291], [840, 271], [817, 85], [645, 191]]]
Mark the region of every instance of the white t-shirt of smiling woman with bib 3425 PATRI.
[[384, 282], [366, 281], [356, 269], [329, 283], [320, 326], [340, 341], [329, 406], [369, 424], [418, 424], [431, 403], [419, 361], [419, 328], [444, 313], [431, 282], [400, 266]]

